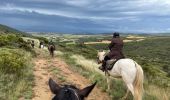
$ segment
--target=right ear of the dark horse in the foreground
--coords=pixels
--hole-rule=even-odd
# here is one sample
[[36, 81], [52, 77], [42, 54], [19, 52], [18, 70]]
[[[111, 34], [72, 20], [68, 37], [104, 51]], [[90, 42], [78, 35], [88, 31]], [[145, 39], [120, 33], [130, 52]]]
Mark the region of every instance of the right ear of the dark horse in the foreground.
[[83, 96], [83, 97], [87, 97], [90, 92], [93, 90], [94, 86], [96, 85], [97, 82], [95, 82], [94, 84], [90, 85], [90, 86], [87, 86], [85, 87], [84, 89], [82, 90], [79, 90], [79, 95], [80, 96]]

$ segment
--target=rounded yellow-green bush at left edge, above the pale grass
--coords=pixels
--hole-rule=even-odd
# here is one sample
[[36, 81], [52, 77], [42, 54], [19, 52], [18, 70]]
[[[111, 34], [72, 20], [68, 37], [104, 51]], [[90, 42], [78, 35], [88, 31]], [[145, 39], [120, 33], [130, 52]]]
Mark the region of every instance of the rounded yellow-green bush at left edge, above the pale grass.
[[0, 71], [3, 73], [21, 74], [26, 67], [27, 58], [22, 49], [0, 49]]

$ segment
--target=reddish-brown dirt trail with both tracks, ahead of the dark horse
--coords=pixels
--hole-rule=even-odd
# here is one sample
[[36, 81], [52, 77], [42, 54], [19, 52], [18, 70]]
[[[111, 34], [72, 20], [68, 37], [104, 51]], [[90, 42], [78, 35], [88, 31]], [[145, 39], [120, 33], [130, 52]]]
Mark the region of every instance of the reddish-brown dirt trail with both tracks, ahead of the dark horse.
[[[69, 66], [61, 59], [56, 57], [49, 59], [49, 57], [44, 57], [42, 54], [44, 53], [41, 52], [41, 54], [35, 59], [35, 86], [33, 88], [34, 97], [32, 100], [51, 100], [52, 93], [49, 90], [48, 86], [48, 79], [50, 77], [52, 77], [60, 84], [71, 83], [81, 89], [91, 84], [88, 79], [70, 70]], [[59, 78], [57, 78], [58, 74], [54, 74], [49, 71], [51, 67], [55, 67], [59, 70], [59, 74], [65, 79], [64, 83]], [[91, 92], [87, 100], [110, 99], [106, 93], [102, 92], [101, 89], [95, 87], [95, 89]]]

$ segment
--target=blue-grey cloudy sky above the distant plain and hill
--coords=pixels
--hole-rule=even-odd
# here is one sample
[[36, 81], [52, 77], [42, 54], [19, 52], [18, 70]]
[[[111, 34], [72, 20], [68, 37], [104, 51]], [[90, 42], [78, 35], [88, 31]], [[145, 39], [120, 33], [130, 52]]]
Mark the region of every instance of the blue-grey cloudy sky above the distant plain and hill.
[[25, 32], [170, 32], [170, 0], [0, 0], [0, 24]]

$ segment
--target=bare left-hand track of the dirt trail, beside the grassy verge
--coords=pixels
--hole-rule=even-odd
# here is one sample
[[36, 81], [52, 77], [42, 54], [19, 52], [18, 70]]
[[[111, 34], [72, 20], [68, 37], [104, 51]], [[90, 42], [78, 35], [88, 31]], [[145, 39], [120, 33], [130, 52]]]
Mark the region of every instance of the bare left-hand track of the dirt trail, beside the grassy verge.
[[34, 98], [32, 100], [50, 100], [51, 98], [51, 92], [47, 85], [50, 75], [45, 70], [46, 65], [47, 62], [45, 59], [35, 60], [35, 87], [33, 88]]

